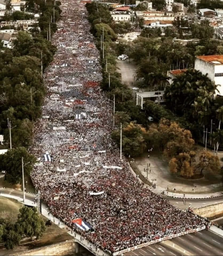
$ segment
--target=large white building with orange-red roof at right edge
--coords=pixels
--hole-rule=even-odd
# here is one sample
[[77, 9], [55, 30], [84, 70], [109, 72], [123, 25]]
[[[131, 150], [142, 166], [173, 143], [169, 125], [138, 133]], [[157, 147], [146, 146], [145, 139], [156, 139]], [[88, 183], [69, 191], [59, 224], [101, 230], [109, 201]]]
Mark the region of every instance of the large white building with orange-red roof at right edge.
[[196, 56], [194, 68], [219, 85], [217, 95], [223, 96], [223, 55]]

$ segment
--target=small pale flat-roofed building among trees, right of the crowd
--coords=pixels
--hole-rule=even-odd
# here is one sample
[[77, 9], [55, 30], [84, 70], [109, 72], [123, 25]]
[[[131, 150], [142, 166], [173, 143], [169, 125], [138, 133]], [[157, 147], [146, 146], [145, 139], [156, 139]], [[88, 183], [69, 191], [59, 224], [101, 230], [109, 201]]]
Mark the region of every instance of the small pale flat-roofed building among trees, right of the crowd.
[[136, 93], [136, 105], [141, 106], [141, 109], [143, 109], [143, 104], [148, 100], [155, 103], [165, 102], [163, 95], [164, 91]]

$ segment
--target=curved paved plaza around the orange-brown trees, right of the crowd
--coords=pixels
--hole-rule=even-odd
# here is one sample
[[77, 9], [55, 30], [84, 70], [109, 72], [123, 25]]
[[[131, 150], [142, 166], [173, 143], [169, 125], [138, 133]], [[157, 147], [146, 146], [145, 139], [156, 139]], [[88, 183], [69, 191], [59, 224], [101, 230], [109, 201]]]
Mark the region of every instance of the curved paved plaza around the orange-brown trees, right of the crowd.
[[[187, 199], [205, 199], [223, 196], [222, 183], [219, 182], [221, 181], [220, 175], [205, 173], [205, 177], [201, 179], [184, 179], [169, 171], [167, 160], [162, 156], [162, 153], [158, 151], [150, 152], [150, 158], [148, 158], [148, 154], [145, 153], [142, 157], [136, 158], [135, 163], [138, 172], [140, 172], [139, 178], [149, 185], [150, 189], [155, 193], [161, 194], [164, 192], [164, 194], [169, 197]], [[147, 164], [148, 181], [146, 180]], [[136, 168], [134, 168], [134, 164], [131, 166], [134, 171], [137, 171]], [[155, 189], [152, 187], [153, 184], [155, 184]], [[168, 194], [166, 193], [167, 190]]]

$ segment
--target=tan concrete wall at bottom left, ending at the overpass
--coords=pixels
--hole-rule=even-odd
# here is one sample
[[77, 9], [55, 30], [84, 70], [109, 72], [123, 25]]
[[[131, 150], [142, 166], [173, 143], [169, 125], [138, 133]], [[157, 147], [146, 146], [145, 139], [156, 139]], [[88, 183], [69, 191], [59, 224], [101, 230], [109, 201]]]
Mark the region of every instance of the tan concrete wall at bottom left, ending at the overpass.
[[44, 246], [44, 247], [40, 247], [37, 249], [33, 249], [33, 250], [28, 250], [28, 251], [24, 251], [24, 252], [18, 252], [15, 254], [11, 254], [11, 255], [68, 255], [71, 253], [78, 253], [79, 252], [79, 244], [77, 242], [75, 242], [74, 239], [69, 240], [69, 241], [65, 241], [65, 242], [61, 242], [61, 243], [56, 243], [56, 244], [52, 244], [49, 246]]

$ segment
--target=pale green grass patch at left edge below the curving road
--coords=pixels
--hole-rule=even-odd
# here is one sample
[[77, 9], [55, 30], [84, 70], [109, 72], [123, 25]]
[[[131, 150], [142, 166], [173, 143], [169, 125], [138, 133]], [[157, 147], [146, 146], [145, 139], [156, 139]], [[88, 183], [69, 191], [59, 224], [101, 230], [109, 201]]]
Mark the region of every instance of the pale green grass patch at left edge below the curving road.
[[12, 222], [16, 222], [22, 204], [15, 199], [0, 196], [0, 206], [0, 217], [9, 217]]

